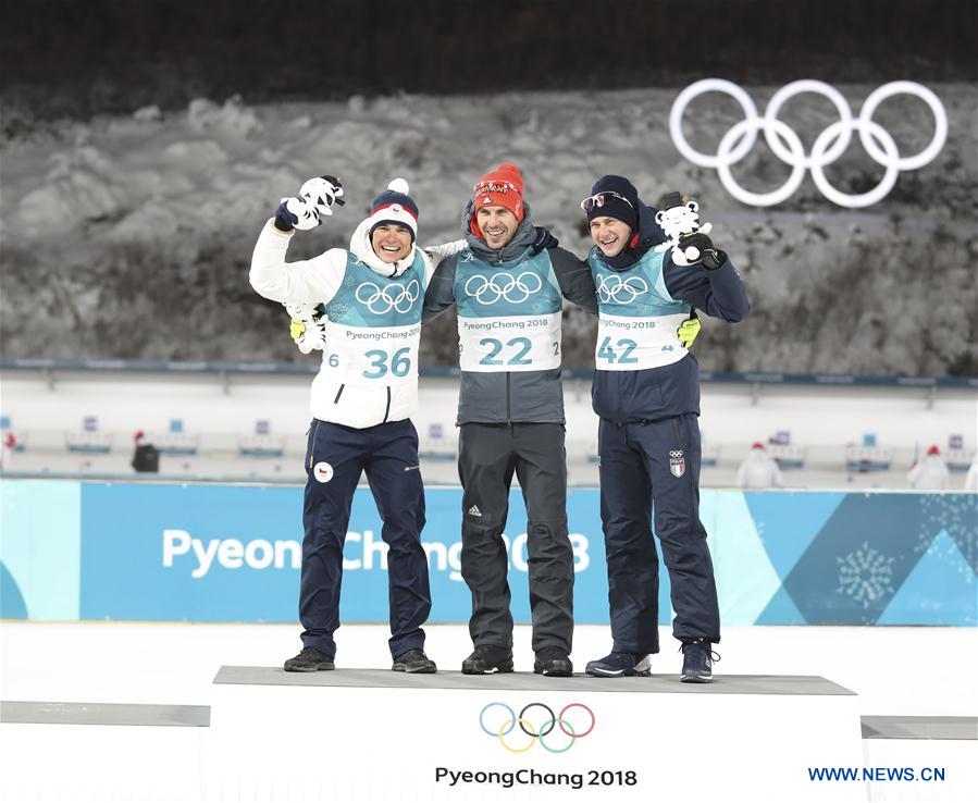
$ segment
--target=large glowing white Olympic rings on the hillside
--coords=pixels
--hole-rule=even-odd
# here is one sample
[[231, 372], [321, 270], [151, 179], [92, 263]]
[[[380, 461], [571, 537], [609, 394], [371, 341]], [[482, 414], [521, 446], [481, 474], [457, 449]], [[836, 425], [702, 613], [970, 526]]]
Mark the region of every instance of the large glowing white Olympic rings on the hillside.
[[[723, 135], [715, 156], [694, 149], [682, 133], [682, 119], [686, 107], [694, 98], [705, 92], [729, 95], [744, 111], [744, 120]], [[805, 153], [799, 135], [778, 120], [781, 107], [795, 95], [803, 92], [821, 95], [839, 113], [839, 120], [816, 137], [809, 155]], [[890, 133], [872, 121], [879, 104], [894, 95], [913, 95], [920, 98], [933, 114], [933, 138], [924, 150], [914, 156], [901, 156]], [[731, 166], [746, 157], [754, 147], [758, 131], [764, 132], [764, 138], [775, 156], [791, 168], [788, 181], [770, 193], [752, 193], [744, 189], [730, 172]], [[859, 195], [842, 193], [833, 187], [825, 175], [826, 165], [845, 152], [854, 131], [858, 132], [859, 140], [869, 158], [886, 169], [880, 183]], [[840, 207], [856, 209], [882, 200], [893, 189], [901, 171], [923, 168], [941, 152], [948, 139], [948, 112], [940, 98], [927, 87], [912, 81], [894, 81], [872, 91], [863, 102], [858, 118], [853, 119], [852, 110], [842, 92], [821, 81], [806, 79], [792, 82], [775, 92], [764, 110], [764, 116], [758, 116], [754, 100], [736, 84], [721, 78], [704, 78], [688, 86], [673, 101], [672, 110], [669, 112], [669, 132], [677, 150], [683, 157], [701, 168], [716, 169], [727, 192], [743, 203], [753, 207], [772, 207], [780, 203], [794, 194], [805, 177], [805, 171], [810, 170], [815, 186], [828, 200]]]

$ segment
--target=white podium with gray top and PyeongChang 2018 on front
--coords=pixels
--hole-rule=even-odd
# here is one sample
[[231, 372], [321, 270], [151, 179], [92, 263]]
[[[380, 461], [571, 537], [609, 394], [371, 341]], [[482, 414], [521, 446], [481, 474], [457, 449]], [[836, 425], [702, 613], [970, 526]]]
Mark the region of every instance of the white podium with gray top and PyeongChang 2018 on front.
[[[865, 801], [856, 695], [821, 677], [529, 674], [214, 678], [207, 799]], [[698, 790], [698, 791], [697, 791]]]

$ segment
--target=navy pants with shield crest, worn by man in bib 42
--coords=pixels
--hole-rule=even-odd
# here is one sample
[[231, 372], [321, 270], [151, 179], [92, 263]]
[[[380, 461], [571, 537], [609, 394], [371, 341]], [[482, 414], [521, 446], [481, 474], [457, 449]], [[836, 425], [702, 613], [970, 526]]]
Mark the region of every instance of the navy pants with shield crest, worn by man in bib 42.
[[700, 425], [692, 413], [598, 429], [602, 527], [615, 651], [659, 651], [659, 561], [663, 545], [672, 590], [672, 634], [720, 640], [714, 567], [700, 521]]

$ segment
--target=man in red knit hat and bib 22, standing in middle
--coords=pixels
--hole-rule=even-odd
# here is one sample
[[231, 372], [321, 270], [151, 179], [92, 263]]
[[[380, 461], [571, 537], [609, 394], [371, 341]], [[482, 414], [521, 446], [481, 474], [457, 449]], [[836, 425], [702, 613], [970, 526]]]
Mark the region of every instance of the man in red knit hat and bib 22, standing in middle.
[[467, 247], [429, 284], [424, 318], [458, 312], [461, 573], [472, 592], [474, 652], [462, 672], [512, 671], [503, 529], [516, 473], [527, 504], [530, 608], [537, 674], [568, 677], [573, 553], [567, 532], [562, 299], [597, 312], [590, 271], [561, 248], [535, 248], [519, 169], [483, 176], [466, 206]]

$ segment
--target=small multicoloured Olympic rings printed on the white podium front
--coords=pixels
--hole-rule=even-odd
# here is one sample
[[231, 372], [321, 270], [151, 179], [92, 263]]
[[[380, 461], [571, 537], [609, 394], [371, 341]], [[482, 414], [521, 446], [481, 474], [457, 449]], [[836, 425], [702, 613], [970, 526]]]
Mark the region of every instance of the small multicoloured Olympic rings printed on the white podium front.
[[[491, 724], [486, 724], [486, 712], [493, 708], [502, 708], [505, 712], [503, 716], [490, 716]], [[534, 708], [541, 708], [538, 714], [531, 715]], [[569, 717], [571, 711], [580, 709], [584, 712], [581, 715]], [[502, 714], [502, 712], [500, 712]], [[590, 722], [587, 721], [590, 718]], [[577, 721], [577, 725], [571, 722]], [[583, 721], [581, 721], [583, 719]], [[498, 726], [496, 725], [498, 720]], [[540, 745], [550, 753], [566, 753], [578, 741], [589, 736], [594, 730], [595, 719], [594, 712], [583, 703], [569, 703], [560, 709], [560, 714], [554, 714], [554, 709], [546, 703], [529, 703], [520, 711], [519, 716], [506, 703], [490, 703], [479, 713], [479, 727], [487, 736], [498, 739], [499, 743], [510, 753], [525, 753], [530, 748], [540, 742]], [[528, 739], [510, 737], [517, 726]], [[559, 729], [562, 737], [555, 736], [554, 731]], [[549, 741], [548, 741], [549, 739]], [[560, 746], [553, 742], [564, 740], [567, 743]], [[525, 742], [525, 743], [523, 743]]]

